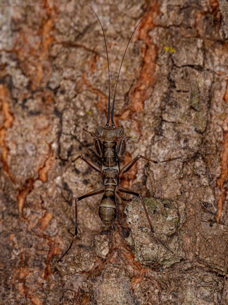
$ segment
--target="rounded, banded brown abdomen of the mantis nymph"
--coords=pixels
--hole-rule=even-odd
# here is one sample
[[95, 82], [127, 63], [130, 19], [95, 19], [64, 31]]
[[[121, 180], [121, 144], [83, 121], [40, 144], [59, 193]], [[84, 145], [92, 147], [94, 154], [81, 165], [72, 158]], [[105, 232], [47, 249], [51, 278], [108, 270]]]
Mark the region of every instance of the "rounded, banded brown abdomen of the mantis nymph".
[[106, 190], [99, 206], [99, 216], [105, 226], [111, 226], [116, 219], [116, 199], [113, 190]]

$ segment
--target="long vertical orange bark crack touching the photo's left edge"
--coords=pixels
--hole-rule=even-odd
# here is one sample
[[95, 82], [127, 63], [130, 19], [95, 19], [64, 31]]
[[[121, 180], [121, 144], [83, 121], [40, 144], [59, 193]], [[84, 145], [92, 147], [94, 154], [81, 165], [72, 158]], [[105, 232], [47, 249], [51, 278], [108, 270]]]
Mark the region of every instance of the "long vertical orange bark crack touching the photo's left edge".
[[1, 105], [1, 112], [3, 116], [3, 124], [2, 128], [0, 129], [0, 148], [1, 148], [1, 162], [3, 164], [3, 169], [8, 173], [12, 182], [14, 182], [14, 178], [9, 172], [9, 168], [7, 165], [7, 155], [9, 152], [9, 148], [5, 143], [5, 136], [6, 131], [8, 128], [12, 126], [13, 123], [13, 115], [10, 113], [10, 93], [8, 88], [0, 84], [0, 105]]

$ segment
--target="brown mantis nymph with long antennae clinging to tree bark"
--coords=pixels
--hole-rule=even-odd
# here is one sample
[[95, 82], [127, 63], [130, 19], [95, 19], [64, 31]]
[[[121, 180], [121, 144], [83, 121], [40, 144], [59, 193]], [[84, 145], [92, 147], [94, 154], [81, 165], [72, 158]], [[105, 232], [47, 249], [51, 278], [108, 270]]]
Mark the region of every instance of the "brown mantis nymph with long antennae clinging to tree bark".
[[[91, 7], [90, 7], [90, 9], [94, 12], [94, 10]], [[96, 12], [94, 12], [94, 14], [96, 15], [96, 17], [101, 25], [101, 21], [98, 18]], [[143, 21], [143, 19], [137, 24], [137, 26]], [[132, 38], [137, 26], [135, 27], [134, 31], [132, 32], [132, 35], [128, 41], [127, 47], [131, 41], [131, 38]], [[105, 33], [104, 33], [104, 29], [103, 29], [102, 25], [101, 25], [101, 28], [102, 28], [103, 36], [104, 36], [104, 40], [105, 40]], [[127, 52], [127, 47], [125, 49], [123, 59]], [[120, 68], [119, 68], [117, 81], [116, 81], [116, 85], [115, 85], [113, 104], [112, 104], [112, 113], [111, 113], [111, 126], [109, 126], [110, 125], [110, 70], [109, 70], [109, 58], [108, 58], [106, 40], [105, 40], [105, 48], [106, 48], [106, 54], [107, 54], [108, 75], [109, 75], [109, 99], [108, 99], [107, 123], [105, 124], [104, 127], [98, 126], [95, 130], [95, 133], [90, 132], [90, 134], [94, 138], [96, 152], [97, 152], [98, 156], [101, 158], [102, 166], [101, 167], [98, 166], [96, 163], [92, 162], [91, 160], [89, 160], [87, 157], [84, 157], [83, 155], [80, 155], [73, 160], [73, 162], [75, 162], [76, 160], [81, 159], [84, 162], [86, 162], [90, 167], [92, 167], [94, 170], [101, 173], [104, 186], [97, 190], [93, 190], [92, 192], [87, 193], [83, 196], [75, 198], [75, 234], [74, 234], [74, 238], [73, 238], [69, 248], [65, 252], [65, 254], [71, 248], [71, 246], [74, 242], [74, 239], [76, 238], [76, 236], [78, 234], [78, 228], [77, 228], [78, 201], [80, 201], [84, 198], [90, 197], [90, 196], [104, 193], [102, 196], [102, 199], [101, 199], [101, 203], [99, 205], [99, 216], [101, 218], [103, 225], [110, 227], [114, 223], [116, 216], [117, 216], [117, 207], [116, 207], [116, 198], [115, 198], [116, 192], [131, 194], [131, 195], [137, 196], [138, 198], [141, 199], [147, 220], [150, 225], [151, 232], [154, 234], [154, 236], [159, 240], [159, 242], [168, 251], [172, 252], [167, 246], [164, 245], [164, 243], [160, 240], [160, 238], [155, 234], [154, 228], [152, 227], [152, 224], [151, 224], [142, 195], [134, 192], [133, 190], [129, 190], [129, 189], [126, 189], [126, 188], [118, 185], [119, 176], [126, 173], [140, 158], [153, 162], [153, 163], [158, 163], [158, 162], [151, 160], [145, 156], [137, 155], [134, 159], [132, 159], [132, 161], [130, 161], [129, 163], [127, 163], [127, 165], [125, 165], [122, 169], [120, 169], [119, 159], [125, 153], [127, 138], [124, 136], [124, 130], [122, 127], [116, 128], [116, 126], [114, 124], [113, 116], [114, 116], [114, 103], [115, 103], [116, 89], [117, 89], [117, 85], [118, 85], [120, 70], [121, 70], [121, 67], [123, 64], [123, 59], [122, 59], [122, 62], [121, 62]], [[117, 140], [119, 140], [119, 145], [117, 144]], [[165, 162], [165, 161], [163, 161], [163, 162]], [[60, 260], [62, 259], [62, 257], [60, 258]]]

